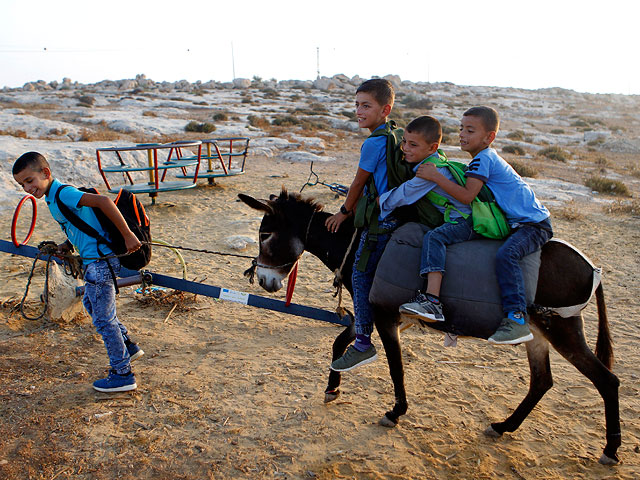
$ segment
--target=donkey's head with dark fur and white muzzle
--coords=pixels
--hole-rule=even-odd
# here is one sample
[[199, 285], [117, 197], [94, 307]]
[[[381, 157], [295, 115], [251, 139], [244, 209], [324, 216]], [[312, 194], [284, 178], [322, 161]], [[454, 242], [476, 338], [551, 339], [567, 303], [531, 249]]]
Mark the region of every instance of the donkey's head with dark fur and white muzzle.
[[322, 206], [312, 200], [302, 200], [296, 193], [287, 193], [284, 188], [280, 196], [271, 195], [269, 200], [242, 193], [238, 197], [251, 208], [264, 212], [256, 274], [262, 288], [277, 292], [302, 255], [311, 217]]

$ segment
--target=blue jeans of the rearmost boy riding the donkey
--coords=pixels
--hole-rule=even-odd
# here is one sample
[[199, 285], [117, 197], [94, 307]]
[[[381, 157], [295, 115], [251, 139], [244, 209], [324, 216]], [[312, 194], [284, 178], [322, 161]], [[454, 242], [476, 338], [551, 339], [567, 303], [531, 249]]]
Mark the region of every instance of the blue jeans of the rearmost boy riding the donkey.
[[[546, 228], [541, 228], [543, 226]], [[521, 224], [513, 230], [498, 250], [496, 276], [505, 315], [509, 312], [525, 313], [527, 311], [520, 259], [542, 248], [552, 236], [549, 219], [536, 224]]]

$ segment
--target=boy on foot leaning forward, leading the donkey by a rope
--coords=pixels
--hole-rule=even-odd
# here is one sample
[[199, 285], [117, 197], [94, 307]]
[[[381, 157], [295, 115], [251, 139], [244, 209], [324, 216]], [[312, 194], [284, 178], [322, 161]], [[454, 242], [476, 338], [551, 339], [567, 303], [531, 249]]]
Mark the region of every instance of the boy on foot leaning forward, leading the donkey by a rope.
[[[37, 152], [22, 155], [13, 165], [13, 178], [25, 192], [36, 198], [45, 197], [51, 215], [68, 238], [68, 242], [58, 245], [58, 252], [68, 253], [73, 245], [82, 257], [85, 281], [82, 303], [102, 336], [110, 363], [107, 378], [96, 380], [93, 388], [99, 392], [135, 390], [137, 384], [131, 371], [131, 361], [141, 357], [144, 352], [130, 339], [126, 327], [116, 315], [114, 275], [120, 271], [118, 258], [108, 246], [98, 246], [95, 238], [80, 231], [62, 215], [56, 201], [56, 192], [62, 183], [53, 178], [49, 162], [44, 156]], [[141, 247], [140, 240], [129, 229], [110, 198], [69, 186], [60, 191], [59, 200], [101, 235], [108, 236], [91, 207], [102, 210], [122, 234], [127, 252], [134, 252]], [[110, 258], [105, 260], [100, 257]]]

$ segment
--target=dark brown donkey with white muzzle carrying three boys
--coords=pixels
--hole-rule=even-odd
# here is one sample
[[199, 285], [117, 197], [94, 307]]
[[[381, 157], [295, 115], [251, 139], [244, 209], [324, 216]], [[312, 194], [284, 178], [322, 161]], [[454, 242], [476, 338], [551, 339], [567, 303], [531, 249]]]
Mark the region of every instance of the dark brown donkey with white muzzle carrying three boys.
[[[344, 286], [352, 292], [351, 270], [355, 248], [349, 249], [354, 236], [353, 222], [347, 220], [338, 232], [330, 233], [324, 223], [330, 216], [312, 199], [302, 199], [283, 188], [278, 197], [259, 200], [248, 195], [238, 197], [251, 208], [264, 212], [259, 232], [259, 256], [256, 260], [260, 286], [268, 292], [282, 288], [282, 280], [304, 250], [318, 257], [329, 269], [342, 268]], [[350, 250], [350, 251], [348, 251]], [[345, 258], [346, 255], [346, 258]], [[586, 301], [591, 295], [593, 268], [570, 246], [550, 242], [542, 249], [541, 264], [535, 303], [540, 306], [571, 306]], [[529, 360], [529, 391], [520, 405], [506, 420], [492, 423], [485, 434], [498, 437], [504, 432], [515, 431], [553, 385], [549, 364], [549, 344], [596, 387], [605, 406], [606, 446], [600, 457], [602, 464], [616, 464], [621, 444], [618, 404], [618, 378], [612, 373], [613, 349], [609, 333], [604, 291], [602, 284], [596, 289], [598, 307], [598, 337], [595, 354], [584, 337], [581, 314], [568, 318], [531, 312], [530, 324], [534, 339], [526, 343]], [[386, 412], [379, 423], [397, 425], [400, 416], [407, 412], [408, 404], [404, 387], [404, 370], [400, 349], [398, 310], [374, 305], [374, 322], [385, 349], [389, 371], [394, 385], [395, 405]], [[339, 358], [355, 338], [353, 323], [334, 341], [333, 359]], [[325, 390], [325, 402], [339, 395], [340, 374], [331, 371]]]

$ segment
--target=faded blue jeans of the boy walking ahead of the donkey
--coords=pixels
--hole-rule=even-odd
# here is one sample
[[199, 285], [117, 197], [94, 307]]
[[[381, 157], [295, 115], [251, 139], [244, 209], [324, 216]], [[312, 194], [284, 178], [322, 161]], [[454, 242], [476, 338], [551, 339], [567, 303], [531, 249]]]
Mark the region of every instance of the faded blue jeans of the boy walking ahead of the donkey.
[[[108, 261], [117, 276], [120, 272], [120, 262], [117, 258]], [[98, 260], [87, 265], [84, 282], [82, 304], [91, 315], [96, 331], [102, 336], [109, 356], [109, 365], [117, 373], [126, 373], [131, 369], [129, 352], [124, 344], [127, 329], [116, 315], [116, 289], [107, 261]]]

